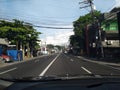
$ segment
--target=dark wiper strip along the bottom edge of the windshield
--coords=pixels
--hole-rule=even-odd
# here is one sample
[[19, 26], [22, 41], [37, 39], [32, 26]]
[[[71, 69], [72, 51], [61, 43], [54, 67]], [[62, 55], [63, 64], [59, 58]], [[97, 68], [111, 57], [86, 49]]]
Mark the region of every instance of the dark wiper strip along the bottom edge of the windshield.
[[118, 78], [118, 77], [120, 78], [120, 75], [65, 74], [65, 75], [51, 75], [51, 76], [27, 76], [27, 77], [15, 77], [15, 78], [0, 77], [0, 79], [14, 82], [14, 81], [56, 81], [56, 80], [82, 79], [82, 78]]

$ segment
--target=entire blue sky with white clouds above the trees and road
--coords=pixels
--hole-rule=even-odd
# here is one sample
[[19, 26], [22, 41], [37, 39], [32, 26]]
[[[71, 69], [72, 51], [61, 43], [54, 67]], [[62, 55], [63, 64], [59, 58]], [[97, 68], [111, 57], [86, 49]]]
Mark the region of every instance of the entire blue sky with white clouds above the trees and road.
[[[0, 0], [0, 18], [19, 19], [38, 26], [73, 28], [73, 21], [85, 15], [90, 9], [80, 9], [84, 0]], [[94, 0], [97, 10], [108, 12], [120, 6], [120, 0]], [[47, 44], [68, 43], [73, 29], [37, 28], [39, 36]]]

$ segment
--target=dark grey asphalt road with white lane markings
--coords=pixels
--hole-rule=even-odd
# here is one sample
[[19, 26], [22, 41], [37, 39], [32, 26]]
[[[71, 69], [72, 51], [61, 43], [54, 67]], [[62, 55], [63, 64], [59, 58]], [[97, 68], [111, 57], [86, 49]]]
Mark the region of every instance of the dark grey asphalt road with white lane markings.
[[0, 77], [120, 75], [120, 69], [59, 53], [0, 68]]

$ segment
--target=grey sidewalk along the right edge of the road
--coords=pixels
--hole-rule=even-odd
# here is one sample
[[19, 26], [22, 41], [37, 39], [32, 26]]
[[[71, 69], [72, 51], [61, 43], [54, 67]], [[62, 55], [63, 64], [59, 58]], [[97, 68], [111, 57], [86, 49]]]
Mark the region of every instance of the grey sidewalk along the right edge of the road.
[[112, 65], [112, 66], [120, 66], [120, 59], [116, 60], [115, 62], [112, 62], [112, 60], [114, 60], [114, 59], [110, 60], [110, 58], [97, 59], [97, 58], [88, 58], [88, 57], [83, 57], [83, 56], [77, 56], [77, 57], [82, 59], [82, 60], [88, 61], [88, 62], [105, 64], [105, 65]]

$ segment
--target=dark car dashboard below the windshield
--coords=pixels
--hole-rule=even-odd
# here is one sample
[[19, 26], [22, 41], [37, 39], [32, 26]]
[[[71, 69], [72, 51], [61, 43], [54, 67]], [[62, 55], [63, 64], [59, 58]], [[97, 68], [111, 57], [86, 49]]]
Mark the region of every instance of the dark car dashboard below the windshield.
[[120, 90], [120, 79], [118, 78], [2, 81], [1, 83], [0, 90]]

